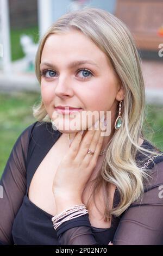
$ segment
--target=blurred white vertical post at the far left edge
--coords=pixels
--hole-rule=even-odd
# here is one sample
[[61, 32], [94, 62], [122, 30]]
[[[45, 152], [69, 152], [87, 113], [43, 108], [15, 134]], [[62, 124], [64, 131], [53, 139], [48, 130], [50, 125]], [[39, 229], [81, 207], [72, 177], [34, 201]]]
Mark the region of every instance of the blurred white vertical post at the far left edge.
[[10, 25], [8, 0], [0, 0], [0, 44], [3, 56], [0, 57], [2, 70], [11, 70]]

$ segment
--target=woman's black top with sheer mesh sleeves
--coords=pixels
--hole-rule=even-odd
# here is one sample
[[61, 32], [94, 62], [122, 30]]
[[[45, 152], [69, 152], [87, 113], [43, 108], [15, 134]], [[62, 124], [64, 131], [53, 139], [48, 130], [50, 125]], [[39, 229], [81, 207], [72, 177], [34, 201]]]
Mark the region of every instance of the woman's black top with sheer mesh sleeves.
[[[112, 217], [110, 228], [92, 227], [89, 214], [53, 228], [52, 215], [32, 203], [27, 194], [33, 175], [61, 136], [52, 124], [35, 122], [18, 137], [5, 166], [0, 185], [1, 245], [163, 245], [163, 156], [148, 167], [152, 182], [141, 202], [134, 202], [120, 217]], [[141, 147], [153, 149], [144, 141]], [[137, 154], [137, 159], [143, 157]], [[118, 204], [118, 190], [114, 206]]]

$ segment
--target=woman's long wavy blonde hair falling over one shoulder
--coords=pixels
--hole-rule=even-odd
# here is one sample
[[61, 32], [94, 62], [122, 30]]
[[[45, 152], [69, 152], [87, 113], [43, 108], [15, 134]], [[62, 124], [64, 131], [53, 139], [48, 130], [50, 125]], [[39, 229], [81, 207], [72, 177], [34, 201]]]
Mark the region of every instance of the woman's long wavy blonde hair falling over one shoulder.
[[[120, 216], [131, 203], [140, 199], [144, 181], [151, 178], [147, 170], [141, 169], [141, 163], [135, 161], [136, 153], [141, 152], [147, 159], [151, 159], [151, 154], [158, 154], [139, 145], [139, 138], [143, 139], [142, 125], [145, 118], [145, 86], [140, 57], [133, 37], [122, 21], [105, 10], [86, 7], [61, 16], [43, 36], [35, 61], [39, 82], [41, 54], [48, 36], [66, 33], [70, 29], [85, 34], [108, 56], [124, 88], [122, 126], [113, 132], [102, 169], [92, 181], [93, 199], [99, 188], [103, 188], [104, 220], [108, 221], [111, 215]], [[49, 121], [42, 101], [39, 106], [34, 106], [34, 116], [39, 121], [44, 118]], [[108, 194], [110, 184], [116, 185], [120, 193], [120, 203], [115, 208], [112, 208]]]

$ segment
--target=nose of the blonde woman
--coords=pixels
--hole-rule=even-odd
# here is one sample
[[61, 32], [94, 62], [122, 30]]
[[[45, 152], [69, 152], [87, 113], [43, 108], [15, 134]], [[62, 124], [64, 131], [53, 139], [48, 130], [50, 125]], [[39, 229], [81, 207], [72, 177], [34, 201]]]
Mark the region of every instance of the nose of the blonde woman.
[[72, 81], [68, 76], [60, 76], [55, 87], [55, 95], [67, 97], [73, 95]]

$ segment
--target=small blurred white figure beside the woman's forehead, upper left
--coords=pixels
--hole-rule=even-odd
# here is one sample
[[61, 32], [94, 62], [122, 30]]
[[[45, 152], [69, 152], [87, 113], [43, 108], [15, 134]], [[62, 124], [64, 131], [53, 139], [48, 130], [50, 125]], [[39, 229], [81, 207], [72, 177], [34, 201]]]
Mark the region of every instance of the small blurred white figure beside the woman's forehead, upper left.
[[24, 60], [27, 63], [27, 66], [34, 69], [35, 55], [39, 44], [34, 44], [32, 36], [26, 34], [21, 35], [20, 43], [25, 54]]

